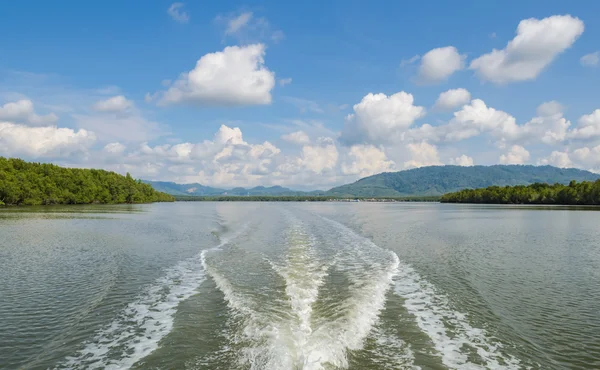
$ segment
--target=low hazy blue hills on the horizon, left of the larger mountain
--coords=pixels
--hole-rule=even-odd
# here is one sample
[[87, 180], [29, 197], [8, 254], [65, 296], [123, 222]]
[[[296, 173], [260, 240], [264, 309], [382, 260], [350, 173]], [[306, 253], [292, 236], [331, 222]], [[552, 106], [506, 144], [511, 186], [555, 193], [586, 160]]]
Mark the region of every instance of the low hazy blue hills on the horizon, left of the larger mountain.
[[282, 186], [257, 186], [254, 188], [233, 188], [233, 189], [220, 189], [213, 188], [210, 186], [204, 186], [201, 184], [177, 184], [174, 182], [165, 181], [144, 181], [147, 184], [152, 185], [157, 191], [162, 191], [171, 195], [196, 195], [196, 196], [210, 196], [210, 195], [279, 195], [279, 196], [293, 196], [293, 195], [319, 195], [324, 192], [321, 190], [315, 190], [311, 192], [296, 191]]

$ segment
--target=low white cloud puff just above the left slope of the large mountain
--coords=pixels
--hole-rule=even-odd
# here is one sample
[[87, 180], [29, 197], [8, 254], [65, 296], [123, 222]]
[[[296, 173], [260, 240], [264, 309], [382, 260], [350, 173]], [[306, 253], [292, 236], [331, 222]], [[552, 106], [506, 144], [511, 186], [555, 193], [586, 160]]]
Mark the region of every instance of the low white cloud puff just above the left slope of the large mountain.
[[345, 175], [366, 177], [392, 171], [395, 167], [395, 163], [388, 160], [383, 149], [373, 145], [354, 145], [350, 148], [348, 156], [351, 162], [343, 163], [341, 168]]

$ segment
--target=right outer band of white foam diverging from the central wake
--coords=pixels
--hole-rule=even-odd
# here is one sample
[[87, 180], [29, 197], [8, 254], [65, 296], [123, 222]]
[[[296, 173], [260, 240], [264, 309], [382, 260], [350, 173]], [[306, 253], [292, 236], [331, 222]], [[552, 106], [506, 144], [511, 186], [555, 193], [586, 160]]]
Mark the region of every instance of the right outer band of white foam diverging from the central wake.
[[[471, 326], [465, 314], [451, 309], [448, 298], [412, 267], [402, 264], [395, 282], [395, 293], [404, 298], [404, 306], [429, 336], [444, 365], [451, 369], [521, 368], [518, 359], [501, 352], [501, 343], [485, 330]], [[446, 323], [453, 329], [447, 329]], [[471, 348], [485, 366], [471, 362], [466, 348]]]

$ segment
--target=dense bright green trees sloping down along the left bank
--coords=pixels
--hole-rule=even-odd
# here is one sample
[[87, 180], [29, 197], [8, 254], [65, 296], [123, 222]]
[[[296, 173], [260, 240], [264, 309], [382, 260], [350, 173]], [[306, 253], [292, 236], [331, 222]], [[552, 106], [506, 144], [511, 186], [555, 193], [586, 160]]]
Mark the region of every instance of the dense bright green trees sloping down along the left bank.
[[104, 170], [63, 168], [0, 157], [0, 205], [174, 201], [152, 186]]

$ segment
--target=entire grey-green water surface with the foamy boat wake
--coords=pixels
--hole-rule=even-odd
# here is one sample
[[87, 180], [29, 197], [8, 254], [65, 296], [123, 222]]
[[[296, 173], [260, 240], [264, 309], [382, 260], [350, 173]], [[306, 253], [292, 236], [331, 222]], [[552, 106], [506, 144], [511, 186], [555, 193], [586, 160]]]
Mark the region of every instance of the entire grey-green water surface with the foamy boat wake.
[[599, 369], [600, 212], [0, 211], [2, 369]]

